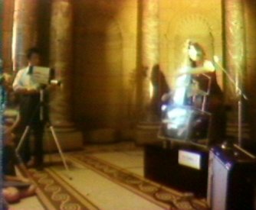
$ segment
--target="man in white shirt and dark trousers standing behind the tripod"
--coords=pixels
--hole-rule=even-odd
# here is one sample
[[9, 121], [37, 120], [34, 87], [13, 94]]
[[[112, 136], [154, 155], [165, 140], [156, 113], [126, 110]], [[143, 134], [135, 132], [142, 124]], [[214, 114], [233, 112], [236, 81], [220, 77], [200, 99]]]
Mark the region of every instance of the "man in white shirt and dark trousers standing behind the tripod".
[[31, 153], [29, 136], [25, 138], [21, 149], [21, 157], [27, 166], [41, 168], [43, 164], [43, 134], [44, 121], [40, 118], [40, 86], [34, 81], [32, 66], [40, 65], [40, 53], [38, 49], [31, 48], [27, 53], [28, 66], [20, 69], [13, 82], [13, 89], [21, 97], [20, 117], [21, 131], [25, 131], [27, 125], [34, 135], [34, 152]]

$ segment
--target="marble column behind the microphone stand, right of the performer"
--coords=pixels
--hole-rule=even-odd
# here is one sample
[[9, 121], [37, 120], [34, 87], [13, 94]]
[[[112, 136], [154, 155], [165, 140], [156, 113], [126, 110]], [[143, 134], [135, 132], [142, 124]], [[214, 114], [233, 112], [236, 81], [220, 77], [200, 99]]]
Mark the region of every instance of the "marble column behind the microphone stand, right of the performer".
[[[229, 134], [234, 136], [248, 137], [248, 124], [245, 123], [245, 99], [241, 99], [241, 115], [239, 114], [238, 101], [240, 100], [239, 87], [245, 92], [246, 78], [246, 51], [245, 51], [245, 11], [244, 1], [225, 0], [223, 1], [224, 31], [225, 31], [225, 68], [235, 81], [235, 85], [225, 76], [225, 99], [233, 105], [233, 111], [228, 115]], [[242, 122], [242, 129], [238, 134], [238, 122]], [[247, 132], [246, 132], [247, 131]], [[239, 137], [238, 137], [239, 139]], [[239, 142], [241, 144], [241, 142]]]

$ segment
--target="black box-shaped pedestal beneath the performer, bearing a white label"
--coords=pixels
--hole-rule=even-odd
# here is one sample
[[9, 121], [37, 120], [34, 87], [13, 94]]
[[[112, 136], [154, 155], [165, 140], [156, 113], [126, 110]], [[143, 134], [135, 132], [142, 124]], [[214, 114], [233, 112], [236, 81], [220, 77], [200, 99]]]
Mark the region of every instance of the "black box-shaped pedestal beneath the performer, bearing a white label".
[[[200, 169], [179, 164], [179, 151], [199, 154]], [[144, 153], [144, 174], [165, 186], [182, 192], [193, 192], [206, 198], [208, 179], [208, 150], [192, 145], [177, 144], [163, 148], [162, 144], [148, 144]]]

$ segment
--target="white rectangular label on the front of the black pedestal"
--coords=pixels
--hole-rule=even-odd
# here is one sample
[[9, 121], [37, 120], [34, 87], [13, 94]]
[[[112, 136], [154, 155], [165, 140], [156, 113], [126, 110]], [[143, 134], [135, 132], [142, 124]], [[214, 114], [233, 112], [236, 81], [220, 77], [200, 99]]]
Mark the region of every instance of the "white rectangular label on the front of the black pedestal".
[[179, 164], [200, 170], [200, 155], [198, 153], [179, 150]]

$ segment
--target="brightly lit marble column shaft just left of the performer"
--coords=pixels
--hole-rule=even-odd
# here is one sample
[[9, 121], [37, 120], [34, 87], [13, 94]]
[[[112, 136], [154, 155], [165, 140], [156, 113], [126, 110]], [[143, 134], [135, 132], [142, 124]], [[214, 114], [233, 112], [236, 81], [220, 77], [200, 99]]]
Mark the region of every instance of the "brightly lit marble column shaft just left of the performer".
[[147, 118], [153, 114], [150, 110], [155, 92], [151, 81], [152, 68], [159, 63], [159, 1], [143, 0], [140, 4], [139, 101], [141, 115]]

